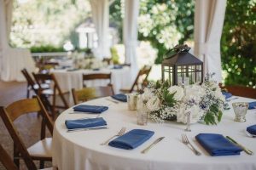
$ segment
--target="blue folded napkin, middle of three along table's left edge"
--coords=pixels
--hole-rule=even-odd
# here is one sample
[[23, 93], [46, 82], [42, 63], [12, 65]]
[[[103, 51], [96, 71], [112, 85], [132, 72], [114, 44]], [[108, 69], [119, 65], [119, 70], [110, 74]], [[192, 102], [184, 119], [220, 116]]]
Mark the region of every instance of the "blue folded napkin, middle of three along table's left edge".
[[108, 106], [99, 105], [77, 105], [73, 107], [73, 111], [89, 112], [89, 113], [102, 113], [107, 111]]

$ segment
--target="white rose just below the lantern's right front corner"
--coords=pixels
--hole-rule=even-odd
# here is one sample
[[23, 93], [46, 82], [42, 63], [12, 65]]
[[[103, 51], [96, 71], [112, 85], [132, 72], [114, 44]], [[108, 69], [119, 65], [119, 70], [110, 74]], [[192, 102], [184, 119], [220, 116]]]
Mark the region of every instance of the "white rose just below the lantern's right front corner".
[[189, 101], [190, 99], [194, 99], [196, 103], [201, 101], [201, 97], [205, 95], [204, 88], [201, 88], [200, 85], [190, 85], [185, 87], [185, 97], [184, 101]]

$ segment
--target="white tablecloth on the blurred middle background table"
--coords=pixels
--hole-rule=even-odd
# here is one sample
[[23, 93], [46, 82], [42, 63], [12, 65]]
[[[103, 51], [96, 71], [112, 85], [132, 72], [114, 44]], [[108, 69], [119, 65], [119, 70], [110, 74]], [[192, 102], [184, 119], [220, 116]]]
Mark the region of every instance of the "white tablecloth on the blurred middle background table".
[[[101, 69], [100, 71], [92, 70], [78, 70], [78, 71], [67, 71], [67, 70], [54, 70], [51, 71], [55, 74], [57, 81], [61, 87], [62, 92], [71, 92], [72, 88], [80, 89], [83, 88], [83, 74], [93, 73], [110, 73], [111, 82], [113, 84], [113, 91], [115, 94], [119, 93], [120, 88], [131, 87], [131, 70], [130, 67], [123, 67], [122, 69]], [[93, 86], [106, 86], [109, 81], [95, 80], [95, 81], [84, 81], [87, 87]], [[72, 95], [70, 95], [69, 103], [73, 103]]]

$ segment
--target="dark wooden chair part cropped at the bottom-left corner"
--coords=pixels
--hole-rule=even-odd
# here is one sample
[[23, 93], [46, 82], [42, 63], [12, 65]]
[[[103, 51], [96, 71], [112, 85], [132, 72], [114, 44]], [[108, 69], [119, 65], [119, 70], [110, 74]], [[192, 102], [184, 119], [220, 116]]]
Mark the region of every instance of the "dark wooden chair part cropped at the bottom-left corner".
[[6, 150], [3, 149], [2, 144], [0, 144], [0, 161], [3, 164], [3, 167], [5, 167], [8, 170], [18, 170], [18, 167], [16, 167], [14, 161], [12, 161], [12, 158], [9, 156]]

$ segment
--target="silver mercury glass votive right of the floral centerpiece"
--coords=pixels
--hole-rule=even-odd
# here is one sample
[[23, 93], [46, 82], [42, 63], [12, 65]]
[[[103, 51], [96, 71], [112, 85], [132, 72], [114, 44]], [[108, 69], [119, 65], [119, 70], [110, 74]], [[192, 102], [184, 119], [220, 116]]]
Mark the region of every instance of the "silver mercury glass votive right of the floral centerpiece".
[[235, 112], [235, 122], [246, 122], [246, 114], [248, 110], [248, 103], [246, 102], [236, 102], [232, 103], [233, 110]]

